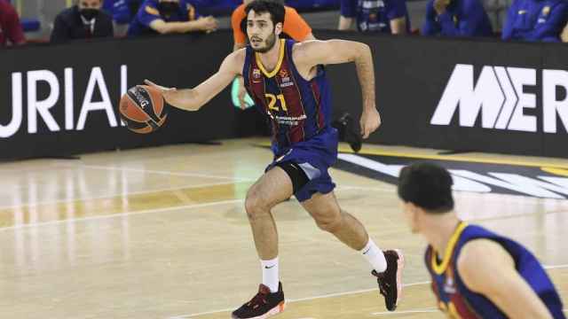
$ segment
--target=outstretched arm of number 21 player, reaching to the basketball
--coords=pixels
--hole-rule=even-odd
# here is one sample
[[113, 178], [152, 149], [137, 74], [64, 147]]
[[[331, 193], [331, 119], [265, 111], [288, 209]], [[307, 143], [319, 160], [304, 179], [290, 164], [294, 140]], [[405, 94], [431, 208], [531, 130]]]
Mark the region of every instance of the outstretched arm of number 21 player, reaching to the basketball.
[[234, 51], [229, 54], [213, 74], [204, 82], [193, 89], [166, 88], [145, 80], [146, 84], [159, 89], [168, 104], [185, 111], [198, 111], [211, 98], [217, 96], [226, 88], [235, 76], [241, 74], [244, 65], [245, 51]]

